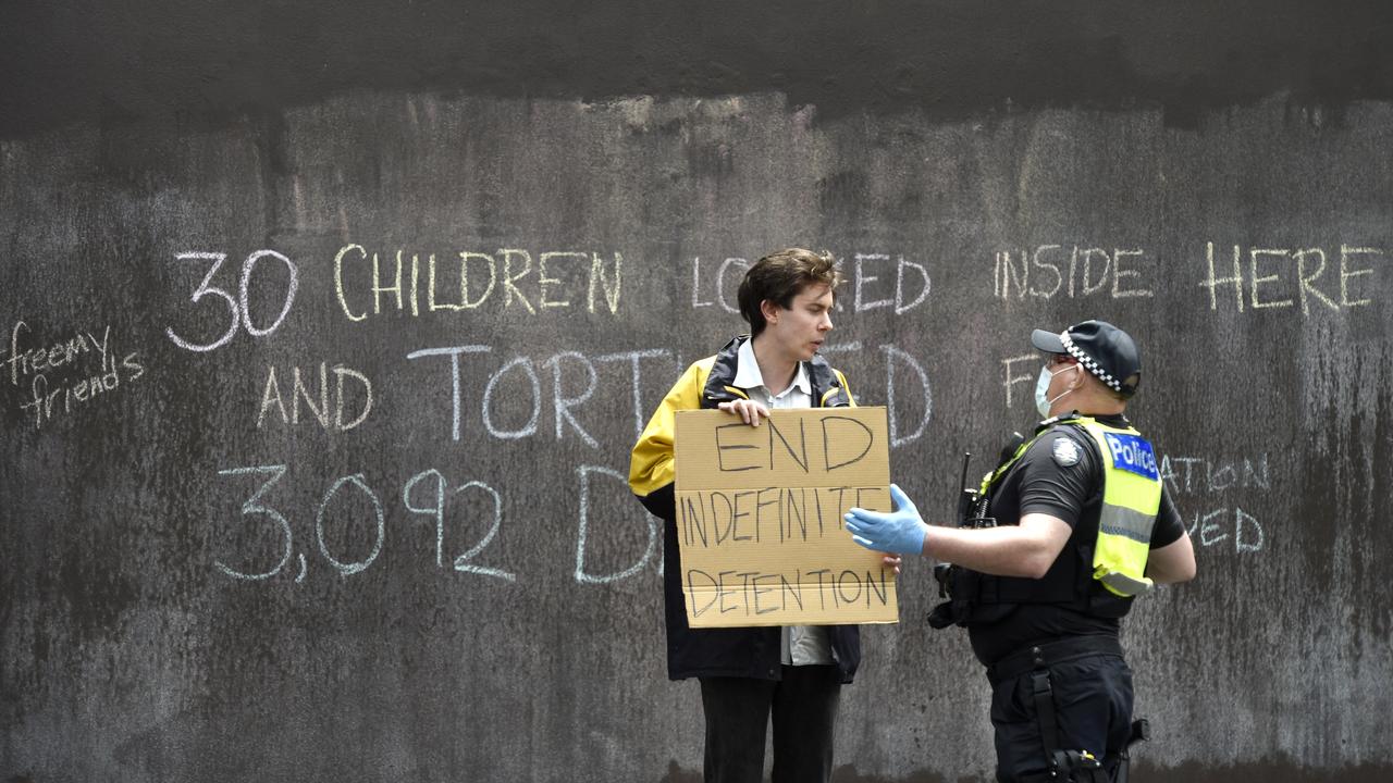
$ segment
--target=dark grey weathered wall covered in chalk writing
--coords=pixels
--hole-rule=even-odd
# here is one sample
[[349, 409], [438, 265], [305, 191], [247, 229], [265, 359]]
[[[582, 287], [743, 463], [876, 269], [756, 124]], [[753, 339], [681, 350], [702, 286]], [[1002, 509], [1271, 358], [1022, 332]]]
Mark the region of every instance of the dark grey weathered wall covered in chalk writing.
[[[788, 244], [940, 520], [1031, 422], [1029, 329], [1139, 339], [1201, 564], [1127, 621], [1149, 779], [1393, 773], [1393, 31], [1302, 8], [11, 8], [3, 779], [695, 780], [621, 475]], [[839, 780], [989, 777], [901, 584]]]

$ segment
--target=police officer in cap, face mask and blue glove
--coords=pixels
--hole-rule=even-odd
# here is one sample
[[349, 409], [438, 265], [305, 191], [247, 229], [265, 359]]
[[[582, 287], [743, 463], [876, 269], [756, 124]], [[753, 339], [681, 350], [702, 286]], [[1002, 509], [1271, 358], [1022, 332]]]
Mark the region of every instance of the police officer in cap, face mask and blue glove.
[[1195, 556], [1151, 443], [1124, 415], [1141, 380], [1133, 339], [1102, 320], [1036, 329], [1045, 421], [1003, 453], [960, 527], [926, 525], [892, 486], [893, 513], [853, 509], [862, 546], [951, 563], [950, 600], [992, 684], [997, 780], [1110, 780], [1134, 733], [1120, 619], [1155, 582], [1194, 578]]

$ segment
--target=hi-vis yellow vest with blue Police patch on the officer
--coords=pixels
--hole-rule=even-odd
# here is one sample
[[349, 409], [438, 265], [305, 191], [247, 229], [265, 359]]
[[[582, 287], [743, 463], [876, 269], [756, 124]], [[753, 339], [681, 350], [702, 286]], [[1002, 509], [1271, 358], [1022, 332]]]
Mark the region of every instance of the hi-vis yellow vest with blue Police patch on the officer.
[[[1130, 426], [1109, 426], [1084, 415], [1061, 418], [1059, 424], [1082, 428], [1098, 443], [1098, 451], [1103, 457], [1103, 506], [1094, 545], [1094, 578], [1121, 598], [1148, 592], [1152, 581], [1145, 575], [1146, 557], [1151, 553], [1151, 531], [1160, 510], [1156, 451]], [[1049, 428], [1021, 444], [1010, 461], [988, 474], [982, 479], [982, 496], [1046, 432]]]

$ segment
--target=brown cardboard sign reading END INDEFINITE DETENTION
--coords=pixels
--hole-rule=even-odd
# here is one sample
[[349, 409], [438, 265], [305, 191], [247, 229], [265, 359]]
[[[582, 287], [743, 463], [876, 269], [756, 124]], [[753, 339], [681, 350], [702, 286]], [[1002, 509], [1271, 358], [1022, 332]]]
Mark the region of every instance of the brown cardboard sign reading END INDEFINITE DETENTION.
[[890, 510], [886, 411], [680, 411], [677, 539], [694, 628], [897, 623], [894, 570], [843, 514]]

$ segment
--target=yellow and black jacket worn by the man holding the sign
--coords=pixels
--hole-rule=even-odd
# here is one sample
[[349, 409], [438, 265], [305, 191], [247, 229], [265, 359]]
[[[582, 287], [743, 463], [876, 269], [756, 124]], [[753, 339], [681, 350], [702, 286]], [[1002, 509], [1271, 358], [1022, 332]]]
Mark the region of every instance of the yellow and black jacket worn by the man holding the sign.
[[[681, 553], [677, 543], [676, 504], [673, 502], [673, 429], [677, 411], [715, 408], [720, 403], [745, 398], [734, 386], [741, 334], [713, 357], [687, 368], [673, 385], [630, 457], [628, 485], [655, 517], [663, 520], [663, 600], [667, 624], [667, 676], [687, 677], [780, 677], [780, 630], [772, 628], [691, 628], [681, 587]], [[812, 385], [812, 398], [820, 407], [855, 405], [847, 380], [822, 357], [804, 362]], [[850, 683], [861, 663], [861, 635], [855, 626], [829, 626], [832, 653]]]

